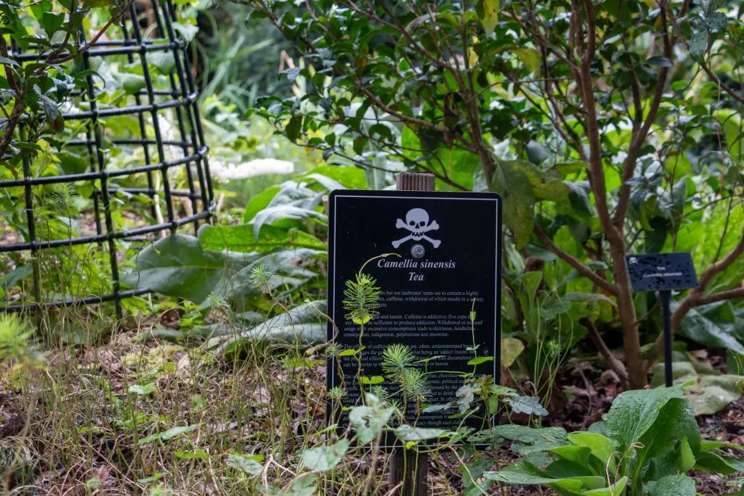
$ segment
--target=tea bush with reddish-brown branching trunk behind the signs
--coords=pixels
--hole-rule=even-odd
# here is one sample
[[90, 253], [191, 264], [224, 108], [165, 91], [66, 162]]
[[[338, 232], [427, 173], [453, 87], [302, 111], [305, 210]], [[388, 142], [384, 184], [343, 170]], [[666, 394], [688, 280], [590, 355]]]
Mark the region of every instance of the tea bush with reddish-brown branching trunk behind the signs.
[[606, 363], [627, 385], [647, 384], [662, 344], [629, 253], [695, 251], [673, 329], [744, 352], [732, 327], [683, 324], [713, 303], [739, 315], [744, 296], [744, 236], [727, 227], [743, 211], [735, 2], [247, 3], [304, 54], [285, 75], [305, 94], [261, 115], [333, 161], [501, 193], [516, 249], [615, 302], [593, 338], [604, 352], [603, 331], [622, 333]]

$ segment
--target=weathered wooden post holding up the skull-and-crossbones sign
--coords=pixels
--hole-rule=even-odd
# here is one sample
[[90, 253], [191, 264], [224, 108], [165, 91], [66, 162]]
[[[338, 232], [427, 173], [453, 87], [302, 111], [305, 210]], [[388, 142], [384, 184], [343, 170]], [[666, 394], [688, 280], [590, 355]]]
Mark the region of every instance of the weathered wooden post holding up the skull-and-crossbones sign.
[[[434, 175], [400, 173], [395, 178], [399, 191], [434, 191]], [[393, 451], [388, 481], [400, 496], [426, 496], [426, 474], [429, 472], [429, 454], [398, 448]]]

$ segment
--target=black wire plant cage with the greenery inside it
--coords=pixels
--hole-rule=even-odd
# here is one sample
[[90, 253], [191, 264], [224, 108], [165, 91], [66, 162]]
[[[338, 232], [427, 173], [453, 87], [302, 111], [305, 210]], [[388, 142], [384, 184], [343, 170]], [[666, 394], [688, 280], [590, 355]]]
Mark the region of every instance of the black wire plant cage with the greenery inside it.
[[[209, 222], [187, 27], [170, 0], [132, 2], [120, 24], [67, 62], [80, 77], [59, 143], [25, 160], [22, 177], [0, 174], [0, 311], [114, 302], [121, 318], [122, 300], [149, 292], [120, 281], [132, 255]], [[43, 52], [13, 46], [21, 64]]]

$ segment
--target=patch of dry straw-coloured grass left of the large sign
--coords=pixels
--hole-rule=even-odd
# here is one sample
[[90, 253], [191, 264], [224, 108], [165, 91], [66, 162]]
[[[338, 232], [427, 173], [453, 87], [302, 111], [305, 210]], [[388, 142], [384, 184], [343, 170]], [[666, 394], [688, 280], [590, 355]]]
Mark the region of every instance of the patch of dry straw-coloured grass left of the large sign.
[[[146, 329], [115, 332], [97, 346], [51, 338], [44, 367], [3, 367], [5, 494], [306, 494], [290, 484], [307, 473], [302, 451], [335, 436], [326, 429], [322, 355], [248, 342], [228, 360], [147, 337]], [[231, 454], [255, 457], [263, 468], [248, 473]], [[333, 472], [304, 478], [318, 478], [323, 494], [361, 494], [371, 456], [358, 453]], [[371, 495], [388, 493], [386, 468], [382, 455]], [[455, 468], [437, 460], [432, 494], [457, 494]]]

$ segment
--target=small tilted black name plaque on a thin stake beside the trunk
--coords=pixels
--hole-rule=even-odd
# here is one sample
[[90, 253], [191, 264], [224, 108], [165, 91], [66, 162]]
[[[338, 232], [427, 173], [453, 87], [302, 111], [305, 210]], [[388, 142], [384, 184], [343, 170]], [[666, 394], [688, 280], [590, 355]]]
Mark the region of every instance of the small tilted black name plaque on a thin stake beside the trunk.
[[697, 286], [693, 257], [689, 253], [627, 255], [633, 291], [668, 291]]

